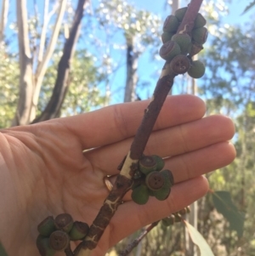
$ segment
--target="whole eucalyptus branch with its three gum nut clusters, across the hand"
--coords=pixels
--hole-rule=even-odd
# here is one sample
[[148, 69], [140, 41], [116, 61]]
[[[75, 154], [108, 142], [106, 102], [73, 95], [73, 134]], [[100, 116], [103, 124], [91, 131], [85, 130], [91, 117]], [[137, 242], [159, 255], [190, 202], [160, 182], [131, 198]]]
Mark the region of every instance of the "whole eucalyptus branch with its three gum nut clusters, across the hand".
[[[42, 256], [54, 255], [56, 251], [65, 251], [67, 256], [90, 255], [118, 206], [122, 204], [122, 198], [127, 191], [133, 190], [133, 201], [139, 204], [145, 204], [150, 196], [161, 201], [169, 196], [174, 184], [172, 172], [163, 168], [164, 161], [160, 156], [144, 156], [144, 148], [161, 106], [173, 87], [174, 77], [188, 72], [190, 77], [200, 78], [205, 72], [205, 65], [200, 60], [192, 60], [203, 48], [202, 44], [206, 42], [208, 34], [205, 27], [207, 21], [198, 13], [201, 3], [202, 0], [191, 0], [188, 7], [178, 9], [164, 23], [161, 37], [163, 45], [159, 54], [166, 60], [165, 65], [130, 150], [118, 167], [120, 174], [117, 175], [116, 182], [93, 224], [88, 226], [86, 223], [74, 221], [68, 213], [43, 219], [38, 225], [37, 237], [37, 247]], [[181, 215], [173, 214], [163, 222], [171, 225], [181, 218], [179, 214]], [[155, 225], [156, 223], [151, 228]], [[79, 240], [82, 242], [72, 252], [70, 242]]]

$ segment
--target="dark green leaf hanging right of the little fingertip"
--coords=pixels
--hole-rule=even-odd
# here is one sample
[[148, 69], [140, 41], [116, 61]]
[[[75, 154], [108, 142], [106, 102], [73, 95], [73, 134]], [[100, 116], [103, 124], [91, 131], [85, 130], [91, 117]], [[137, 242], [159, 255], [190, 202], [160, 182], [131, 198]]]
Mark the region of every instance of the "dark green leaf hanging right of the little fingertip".
[[235, 230], [239, 237], [242, 236], [245, 214], [240, 212], [232, 202], [229, 191], [215, 191], [212, 193], [212, 202], [218, 213], [222, 213], [229, 221], [231, 230]]

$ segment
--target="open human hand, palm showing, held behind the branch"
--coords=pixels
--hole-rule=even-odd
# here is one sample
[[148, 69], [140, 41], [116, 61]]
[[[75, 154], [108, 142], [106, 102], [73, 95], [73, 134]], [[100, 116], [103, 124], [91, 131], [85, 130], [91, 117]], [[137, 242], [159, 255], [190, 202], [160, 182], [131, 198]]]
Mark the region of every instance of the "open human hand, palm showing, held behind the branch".
[[[39, 255], [37, 225], [48, 215], [70, 213], [91, 225], [109, 191], [104, 177], [127, 154], [149, 101], [112, 105], [82, 114], [1, 130], [0, 240], [8, 255]], [[124, 197], [92, 253], [105, 255], [122, 238], [204, 196], [201, 175], [235, 158], [228, 117], [202, 118], [204, 103], [191, 95], [167, 97], [145, 154], [166, 159], [175, 185], [166, 201], [144, 206]], [[158, 209], [161, 209], [160, 211]]]

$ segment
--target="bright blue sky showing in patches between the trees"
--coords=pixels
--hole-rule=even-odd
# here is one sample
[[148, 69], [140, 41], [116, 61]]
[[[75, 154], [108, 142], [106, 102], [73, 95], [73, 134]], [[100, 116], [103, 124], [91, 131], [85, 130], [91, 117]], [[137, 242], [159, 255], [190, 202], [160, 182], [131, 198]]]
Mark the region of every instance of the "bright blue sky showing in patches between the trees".
[[[0, 6], [2, 5], [2, 1], [0, 0]], [[91, 0], [93, 4], [96, 4], [97, 0]], [[76, 1], [74, 1], [76, 2]], [[133, 3], [138, 9], [146, 9], [152, 13], [161, 15], [162, 20], [164, 20], [168, 14], [170, 14], [170, 9], [166, 8], [166, 0], [127, 0], [129, 3]], [[217, 2], [217, 1], [214, 1]], [[225, 1], [227, 2], [227, 1]], [[27, 0], [28, 9], [32, 7], [33, 1]], [[41, 0], [37, 0], [37, 3], [43, 3]], [[212, 1], [213, 3], [213, 1]], [[242, 11], [246, 8], [246, 6], [250, 3], [250, 0], [240, 1], [240, 0], [232, 0], [229, 4], [229, 14], [224, 17], [224, 22], [229, 23], [230, 25], [241, 25], [245, 24], [246, 21], [251, 19], [251, 15], [254, 14], [254, 11], [251, 10], [247, 14], [241, 15]], [[180, 7], [184, 7], [187, 5], [187, 1], [180, 0]], [[15, 14], [15, 0], [10, 0], [10, 16]], [[8, 24], [9, 25], [9, 24]], [[123, 57], [125, 58], [125, 52], [122, 52]], [[124, 59], [122, 58], [122, 59]], [[124, 63], [124, 61], [123, 61]], [[161, 66], [164, 64], [163, 60], [151, 61], [150, 54], [148, 51], [144, 52], [142, 56], [139, 58], [139, 79], [141, 82], [146, 82], [149, 84], [144, 88], [140, 88], [138, 90], [138, 94], [142, 100], [147, 99], [153, 93], [153, 90], [156, 85], [157, 77], [161, 70]], [[126, 70], [125, 65], [119, 69], [117, 75], [112, 81], [112, 90], [113, 94], [111, 95], [111, 104], [122, 102], [123, 100], [123, 88], [125, 85], [126, 79]], [[121, 89], [119, 88], [121, 86]], [[173, 91], [174, 93], [174, 91]], [[178, 90], [175, 91], [178, 94]]]

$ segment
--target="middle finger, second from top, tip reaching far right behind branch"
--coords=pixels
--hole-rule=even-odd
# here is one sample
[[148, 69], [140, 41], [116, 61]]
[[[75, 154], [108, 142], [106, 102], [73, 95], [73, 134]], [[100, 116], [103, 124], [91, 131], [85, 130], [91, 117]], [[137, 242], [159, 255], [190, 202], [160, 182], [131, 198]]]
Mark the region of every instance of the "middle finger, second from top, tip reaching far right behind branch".
[[[229, 140], [235, 134], [233, 122], [224, 116], [205, 117], [173, 128], [156, 131], [150, 135], [145, 154], [161, 157], [177, 156], [208, 145]], [[131, 138], [85, 153], [94, 168], [106, 174], [117, 174], [116, 167], [127, 154]]]

